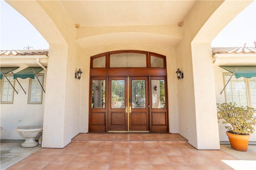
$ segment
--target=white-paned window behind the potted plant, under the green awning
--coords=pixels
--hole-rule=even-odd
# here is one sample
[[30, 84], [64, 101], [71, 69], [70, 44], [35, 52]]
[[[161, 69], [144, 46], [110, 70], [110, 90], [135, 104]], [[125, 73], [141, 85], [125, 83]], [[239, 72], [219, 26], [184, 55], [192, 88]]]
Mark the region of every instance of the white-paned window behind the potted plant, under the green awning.
[[[238, 106], [249, 106], [256, 108], [256, 77], [236, 78], [232, 74], [224, 73], [224, 84], [226, 85], [226, 103], [234, 103]], [[228, 80], [230, 81], [228, 82]]]

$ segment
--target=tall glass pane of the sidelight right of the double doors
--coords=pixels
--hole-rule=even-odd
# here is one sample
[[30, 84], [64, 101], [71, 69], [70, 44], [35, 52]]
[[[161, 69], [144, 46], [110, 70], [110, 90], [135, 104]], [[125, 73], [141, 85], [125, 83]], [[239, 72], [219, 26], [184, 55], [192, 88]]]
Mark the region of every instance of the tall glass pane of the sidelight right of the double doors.
[[165, 109], [164, 80], [151, 80], [152, 109]]

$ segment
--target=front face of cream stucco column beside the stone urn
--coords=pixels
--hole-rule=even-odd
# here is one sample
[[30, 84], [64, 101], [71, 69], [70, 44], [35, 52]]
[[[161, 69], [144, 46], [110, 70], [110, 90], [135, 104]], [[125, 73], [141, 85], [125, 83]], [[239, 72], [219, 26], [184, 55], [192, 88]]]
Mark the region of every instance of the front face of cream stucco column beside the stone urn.
[[64, 147], [67, 50], [67, 45], [54, 45], [48, 54], [42, 137], [43, 148]]

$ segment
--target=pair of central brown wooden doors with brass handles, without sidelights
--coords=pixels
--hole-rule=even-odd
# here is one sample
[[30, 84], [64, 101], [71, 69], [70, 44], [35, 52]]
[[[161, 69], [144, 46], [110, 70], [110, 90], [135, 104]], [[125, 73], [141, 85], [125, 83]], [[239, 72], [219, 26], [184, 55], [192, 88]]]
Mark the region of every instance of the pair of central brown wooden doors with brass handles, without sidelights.
[[108, 92], [108, 132], [149, 131], [148, 77], [109, 77]]

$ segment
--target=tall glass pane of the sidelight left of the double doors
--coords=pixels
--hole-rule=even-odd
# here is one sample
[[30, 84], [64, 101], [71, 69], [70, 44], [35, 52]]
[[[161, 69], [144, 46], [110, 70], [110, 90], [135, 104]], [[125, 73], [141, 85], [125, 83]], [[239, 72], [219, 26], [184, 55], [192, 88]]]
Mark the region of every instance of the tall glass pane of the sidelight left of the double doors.
[[92, 81], [92, 109], [105, 109], [105, 80]]

